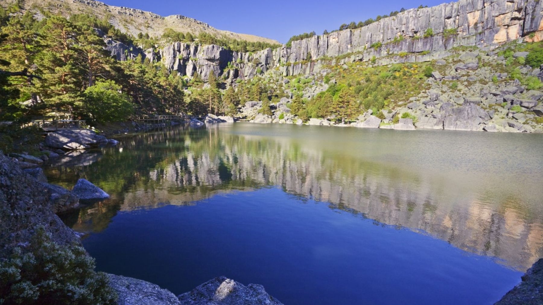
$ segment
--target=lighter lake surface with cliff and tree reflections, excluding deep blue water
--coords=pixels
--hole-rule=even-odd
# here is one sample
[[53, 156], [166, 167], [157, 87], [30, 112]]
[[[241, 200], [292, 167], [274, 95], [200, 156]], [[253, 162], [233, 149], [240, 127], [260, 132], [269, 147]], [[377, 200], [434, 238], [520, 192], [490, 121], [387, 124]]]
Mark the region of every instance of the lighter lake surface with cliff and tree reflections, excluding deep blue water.
[[178, 127], [127, 136], [81, 158], [82, 165], [52, 165], [47, 175], [66, 186], [86, 178], [112, 194], [64, 216], [79, 231], [104, 230], [119, 210], [190, 205], [277, 185], [522, 270], [543, 256], [543, 138], [522, 136]]

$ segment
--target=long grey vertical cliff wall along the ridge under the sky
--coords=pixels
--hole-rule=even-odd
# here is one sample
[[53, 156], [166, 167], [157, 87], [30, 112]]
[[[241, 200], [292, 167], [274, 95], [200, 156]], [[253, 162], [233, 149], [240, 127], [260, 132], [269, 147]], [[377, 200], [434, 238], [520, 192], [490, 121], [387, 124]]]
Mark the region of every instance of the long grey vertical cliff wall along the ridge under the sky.
[[[445, 57], [447, 50], [458, 46], [493, 48], [521, 37], [541, 41], [542, 17], [538, 0], [460, 0], [410, 9], [355, 30], [294, 41], [290, 48], [251, 54], [174, 43], [160, 51], [160, 58], [181, 75], [197, 73], [203, 79], [211, 71], [226, 73], [227, 79], [248, 79], [274, 68], [284, 76], [308, 74], [317, 72], [330, 57], [342, 56], [341, 62], [369, 61], [374, 56], [390, 57], [391, 62], [428, 61]], [[427, 29], [432, 29], [432, 36], [424, 37]], [[378, 42], [381, 47], [371, 48]], [[403, 56], [398, 56], [400, 53]], [[236, 69], [223, 72], [228, 62]]]

